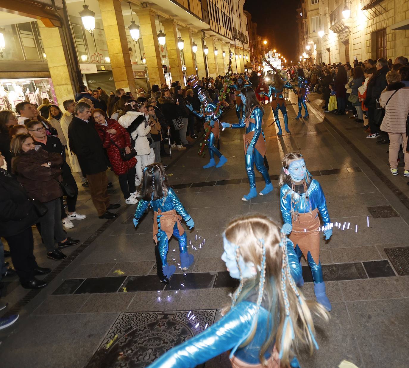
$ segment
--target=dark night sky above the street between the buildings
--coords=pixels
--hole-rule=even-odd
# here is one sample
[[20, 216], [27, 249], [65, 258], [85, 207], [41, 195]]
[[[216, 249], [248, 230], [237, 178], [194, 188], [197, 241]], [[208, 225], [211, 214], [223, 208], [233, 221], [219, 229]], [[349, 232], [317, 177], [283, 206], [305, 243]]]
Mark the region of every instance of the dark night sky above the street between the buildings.
[[270, 41], [274, 32], [275, 42], [271, 48], [284, 54], [288, 61], [297, 59], [297, 12], [299, 0], [246, 0], [244, 10], [257, 23], [257, 33], [261, 39]]

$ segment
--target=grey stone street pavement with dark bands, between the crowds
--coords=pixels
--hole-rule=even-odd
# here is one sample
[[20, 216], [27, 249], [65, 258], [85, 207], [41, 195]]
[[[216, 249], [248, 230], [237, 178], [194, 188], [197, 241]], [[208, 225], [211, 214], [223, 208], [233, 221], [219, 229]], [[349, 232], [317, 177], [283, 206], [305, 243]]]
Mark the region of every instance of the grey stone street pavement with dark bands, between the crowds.
[[[211, 325], [236, 285], [220, 260], [223, 227], [247, 212], [267, 214], [281, 224], [276, 179], [281, 158], [295, 150], [321, 183], [331, 220], [350, 223], [349, 230], [334, 229], [329, 242], [321, 239], [321, 263], [333, 310], [329, 323], [317, 321], [319, 350], [312, 357], [301, 353], [302, 367], [333, 368], [343, 359], [360, 368], [407, 367], [409, 276], [398, 272], [405, 273], [405, 267], [408, 271], [408, 264], [393, 265], [385, 251], [392, 248], [387, 250], [392, 260], [405, 260], [402, 255], [408, 253], [409, 187], [403, 167], [400, 175], [392, 176], [388, 147], [366, 139], [362, 127], [347, 117], [324, 118], [316, 94], [310, 95], [310, 119], [295, 120], [298, 107], [293, 96], [287, 106], [292, 134], [277, 137], [276, 127], [269, 126], [274, 122], [270, 105], [265, 106], [272, 194], [241, 201], [248, 182], [238, 129], [222, 133], [220, 149], [229, 159], [222, 168], [202, 169], [208, 158], [197, 155], [198, 142], [187, 151], [175, 151], [166, 161], [171, 185], [196, 223], [196, 230], [187, 234], [197, 248], [191, 250], [195, 256], [191, 269], [186, 275], [179, 270], [166, 287], [155, 275], [153, 214], [146, 214], [134, 229], [136, 206], [123, 204], [112, 172], [112, 202], [122, 203], [119, 217], [98, 219], [81, 188], [78, 210], [88, 217], [76, 221], [68, 233], [85, 243], [68, 248], [71, 257], [61, 265], [45, 258], [34, 229], [38, 263], [56, 268], [40, 292], [27, 293], [15, 280], [5, 282], [7, 296], [2, 300], [9, 302], [11, 312], [20, 313], [20, 319], [0, 333], [0, 366], [142, 368], [166, 347]], [[236, 122], [235, 112], [223, 120]], [[256, 175], [261, 179], [257, 171]], [[258, 191], [263, 186], [257, 182]], [[174, 239], [168, 258], [177, 264]], [[303, 272], [302, 291], [314, 298], [307, 266]], [[229, 367], [227, 354], [204, 366]]]

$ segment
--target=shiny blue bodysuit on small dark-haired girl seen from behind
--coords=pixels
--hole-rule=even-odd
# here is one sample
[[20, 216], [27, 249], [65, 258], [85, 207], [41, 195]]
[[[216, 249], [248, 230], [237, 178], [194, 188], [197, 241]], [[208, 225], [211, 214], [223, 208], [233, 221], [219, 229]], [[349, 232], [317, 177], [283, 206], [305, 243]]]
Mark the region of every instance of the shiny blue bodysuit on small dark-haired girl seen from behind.
[[[149, 203], [151, 203], [151, 208], [154, 212], [167, 212], [171, 210], [176, 210], [176, 212], [184, 219], [184, 221], [189, 221], [191, 216], [185, 208], [183, 207], [182, 203], [180, 202], [178, 196], [175, 194], [172, 188], [168, 188], [168, 193], [166, 196], [162, 197], [161, 199], [157, 199], [155, 201], [145, 201], [141, 199], [138, 203], [138, 207], [135, 211], [135, 219], [139, 222], [142, 215], [148, 208]], [[166, 255], [168, 253], [168, 237], [164, 230], [161, 228], [160, 218], [161, 214], [158, 213], [157, 216], [157, 225], [158, 225], [158, 233], [157, 233], [157, 245], [159, 248], [160, 258], [162, 260], [162, 266], [167, 265]], [[154, 220], [155, 221], [155, 220]], [[180, 235], [178, 230], [177, 221], [173, 226], [173, 236], [178, 239], [179, 242], [179, 251], [180, 253], [187, 253], [187, 236], [186, 233]]]

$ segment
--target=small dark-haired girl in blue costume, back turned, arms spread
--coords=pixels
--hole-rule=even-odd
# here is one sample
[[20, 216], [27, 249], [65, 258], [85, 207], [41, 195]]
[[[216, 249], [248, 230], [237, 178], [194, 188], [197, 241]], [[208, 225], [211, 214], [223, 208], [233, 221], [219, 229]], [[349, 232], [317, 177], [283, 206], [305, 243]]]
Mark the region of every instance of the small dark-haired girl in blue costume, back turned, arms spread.
[[162, 164], [154, 163], [145, 167], [140, 193], [142, 199], [139, 200], [133, 224], [135, 227], [138, 225], [148, 205], [151, 205], [155, 213], [153, 239], [156, 243], [157, 275], [162, 282], [167, 284], [171, 275], [176, 271], [176, 267], [169, 266], [166, 260], [168, 241], [172, 235], [178, 239], [181, 268], [187, 270], [193, 263], [194, 257], [187, 251], [187, 236], [181, 220], [183, 218], [190, 229], [193, 229], [195, 223], [170, 187]]

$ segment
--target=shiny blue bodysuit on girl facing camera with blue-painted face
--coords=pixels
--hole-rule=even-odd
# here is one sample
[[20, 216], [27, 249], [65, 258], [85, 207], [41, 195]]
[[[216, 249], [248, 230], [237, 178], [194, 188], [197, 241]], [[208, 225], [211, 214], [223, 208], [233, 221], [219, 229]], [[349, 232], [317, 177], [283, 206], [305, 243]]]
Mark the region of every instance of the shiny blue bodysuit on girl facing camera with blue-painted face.
[[[292, 221], [294, 216], [297, 216], [297, 214], [306, 214], [315, 209], [318, 209], [324, 225], [330, 224], [325, 195], [321, 185], [315, 179], [312, 179], [306, 193], [298, 193], [288, 184], [284, 184], [280, 191], [280, 209], [285, 224], [292, 224], [294, 226]], [[316, 229], [316, 231], [317, 230], [318, 229]], [[298, 244], [295, 244], [295, 251], [299, 260], [301, 260], [302, 252]], [[321, 262], [319, 259], [317, 264], [309, 251], [306, 258], [312, 271], [314, 283], [319, 284], [323, 282]]]

